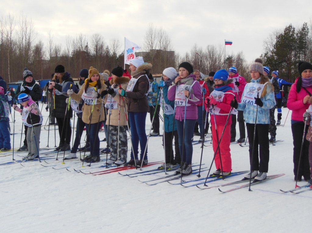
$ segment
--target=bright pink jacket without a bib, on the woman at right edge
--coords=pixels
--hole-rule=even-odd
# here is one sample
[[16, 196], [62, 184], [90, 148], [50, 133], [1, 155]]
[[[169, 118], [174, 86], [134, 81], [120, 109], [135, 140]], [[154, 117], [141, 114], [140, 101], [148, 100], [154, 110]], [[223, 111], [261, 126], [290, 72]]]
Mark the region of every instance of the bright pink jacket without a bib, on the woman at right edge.
[[[305, 96], [309, 96], [309, 93], [303, 87], [301, 87], [300, 91], [297, 92], [296, 85], [297, 85], [298, 78], [296, 78], [294, 84], [291, 85], [291, 88], [288, 94], [287, 108], [292, 110], [291, 112], [292, 120], [302, 121], [303, 113], [310, 106], [309, 102], [307, 102], [306, 104], [303, 103], [303, 98]], [[310, 93], [312, 93], [312, 87], [307, 87], [306, 89]]]

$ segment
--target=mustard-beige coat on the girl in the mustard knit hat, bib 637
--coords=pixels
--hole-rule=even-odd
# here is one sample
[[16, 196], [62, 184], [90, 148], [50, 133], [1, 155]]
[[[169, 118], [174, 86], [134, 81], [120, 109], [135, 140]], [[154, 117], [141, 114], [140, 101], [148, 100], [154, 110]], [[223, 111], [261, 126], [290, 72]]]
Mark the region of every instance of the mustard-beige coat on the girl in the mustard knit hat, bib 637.
[[[100, 90], [98, 90], [99, 94], [101, 94], [102, 91], [106, 90], [107, 86], [106, 84], [102, 84]], [[82, 93], [85, 91], [85, 83], [81, 86], [80, 91], [76, 94], [75, 92], [73, 94], [71, 94], [71, 98], [73, 98], [76, 101], [81, 101], [81, 96]], [[100, 117], [100, 121], [104, 121], [105, 119], [105, 114], [104, 114], [104, 105], [102, 108], [102, 112], [101, 112], [101, 105], [102, 105], [102, 98], [97, 99], [97, 103], [96, 105], [94, 105], [93, 108], [93, 114], [92, 114], [92, 119], [90, 122], [90, 116], [91, 116], [91, 111], [92, 111], [92, 106], [93, 105], [87, 105], [86, 103], [84, 103], [84, 105], [82, 106], [82, 121], [84, 123], [98, 123], [99, 122], [99, 117], [100, 117], [100, 113], [101, 113], [101, 117]]]

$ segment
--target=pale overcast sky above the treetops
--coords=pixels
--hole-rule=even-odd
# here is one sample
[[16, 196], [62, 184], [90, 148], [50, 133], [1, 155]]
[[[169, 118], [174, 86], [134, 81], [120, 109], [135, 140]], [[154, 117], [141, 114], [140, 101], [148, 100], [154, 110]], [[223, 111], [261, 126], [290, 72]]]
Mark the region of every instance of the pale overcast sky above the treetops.
[[[275, 30], [290, 23], [310, 24], [311, 1], [185, 1], [185, 0], [2, 0], [0, 16], [9, 13], [18, 19], [23, 11], [31, 18], [39, 39], [47, 45], [51, 31], [54, 43], [65, 48], [66, 35], [94, 33], [106, 43], [117, 38], [124, 47], [124, 37], [143, 47], [143, 37], [150, 23], [163, 27], [180, 55], [190, 52], [195, 43], [203, 49], [208, 44], [224, 46], [227, 54], [243, 51], [247, 62], [263, 53], [263, 41]], [[143, 50], [139, 50], [143, 51]]]

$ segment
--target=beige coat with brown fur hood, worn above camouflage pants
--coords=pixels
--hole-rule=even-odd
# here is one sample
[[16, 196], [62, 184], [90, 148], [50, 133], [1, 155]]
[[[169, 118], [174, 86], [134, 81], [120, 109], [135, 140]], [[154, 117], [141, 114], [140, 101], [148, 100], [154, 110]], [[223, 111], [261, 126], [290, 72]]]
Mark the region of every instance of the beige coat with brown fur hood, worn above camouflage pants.
[[[121, 88], [126, 90], [128, 83], [129, 83], [129, 77], [117, 77], [115, 79], [111, 79], [110, 80], [110, 84], [112, 85], [112, 88], [119, 88], [119, 84], [121, 85]], [[108, 96], [108, 95], [107, 95]], [[107, 96], [105, 96], [104, 102], [106, 103], [107, 100]], [[112, 109], [111, 113], [110, 110], [107, 110], [107, 118], [106, 118], [106, 124], [109, 124], [110, 121], [110, 125], [115, 125], [118, 126], [118, 119], [119, 119], [119, 98], [120, 98], [120, 124], [119, 125], [127, 125], [127, 119], [128, 119], [128, 98], [126, 97], [122, 97], [119, 94], [116, 94], [116, 96], [114, 97], [114, 99], [117, 101], [118, 105], [117, 105], [117, 109]], [[124, 100], [123, 100], [124, 98]], [[127, 118], [124, 112], [124, 106], [126, 107], [126, 113], [127, 113]], [[109, 116], [110, 115], [110, 116]], [[110, 120], [109, 120], [110, 117]]]

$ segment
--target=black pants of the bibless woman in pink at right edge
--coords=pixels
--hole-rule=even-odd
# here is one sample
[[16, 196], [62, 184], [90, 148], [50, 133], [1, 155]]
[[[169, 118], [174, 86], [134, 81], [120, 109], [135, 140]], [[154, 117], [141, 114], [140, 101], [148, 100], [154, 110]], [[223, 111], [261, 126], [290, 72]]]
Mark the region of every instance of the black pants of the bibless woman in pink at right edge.
[[[297, 171], [299, 170], [299, 178], [303, 176], [305, 180], [310, 179], [310, 165], [309, 165], [309, 141], [304, 137], [303, 142], [303, 150], [301, 155], [301, 161], [299, 164], [301, 144], [303, 131], [305, 128], [305, 136], [308, 131], [309, 125], [306, 125], [302, 122], [297, 122], [291, 124], [291, 132], [293, 134], [293, 144], [294, 144], [294, 175], [297, 175]], [[298, 177], [297, 177], [298, 178]]]

